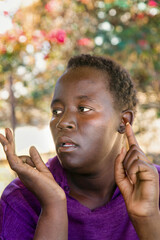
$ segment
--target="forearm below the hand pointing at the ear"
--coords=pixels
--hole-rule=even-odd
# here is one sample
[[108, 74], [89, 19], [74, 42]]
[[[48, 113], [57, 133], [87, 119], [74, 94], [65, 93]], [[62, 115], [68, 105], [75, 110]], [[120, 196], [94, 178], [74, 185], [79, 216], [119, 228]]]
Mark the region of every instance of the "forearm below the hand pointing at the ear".
[[131, 219], [140, 240], [160, 239], [160, 213], [152, 217]]

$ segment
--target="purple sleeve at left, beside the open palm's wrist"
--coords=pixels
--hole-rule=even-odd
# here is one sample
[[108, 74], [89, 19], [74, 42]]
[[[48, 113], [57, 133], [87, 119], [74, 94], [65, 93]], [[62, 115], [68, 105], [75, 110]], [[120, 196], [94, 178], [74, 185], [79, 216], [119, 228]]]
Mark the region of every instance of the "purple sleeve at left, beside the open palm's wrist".
[[27, 189], [4, 190], [0, 200], [0, 240], [33, 239], [40, 206]]

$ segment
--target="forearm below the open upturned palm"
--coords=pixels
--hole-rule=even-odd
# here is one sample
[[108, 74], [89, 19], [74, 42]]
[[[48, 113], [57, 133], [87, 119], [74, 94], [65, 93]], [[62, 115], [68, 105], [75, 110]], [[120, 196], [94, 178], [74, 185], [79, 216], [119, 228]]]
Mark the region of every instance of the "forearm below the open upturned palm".
[[33, 240], [67, 240], [68, 216], [66, 203], [43, 208]]

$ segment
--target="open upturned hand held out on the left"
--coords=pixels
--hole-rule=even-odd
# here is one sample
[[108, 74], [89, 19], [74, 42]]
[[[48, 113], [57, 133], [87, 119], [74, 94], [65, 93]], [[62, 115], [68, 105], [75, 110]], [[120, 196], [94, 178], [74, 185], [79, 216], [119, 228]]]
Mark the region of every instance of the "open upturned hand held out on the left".
[[35, 147], [30, 148], [30, 157], [18, 157], [15, 154], [12, 132], [8, 128], [6, 129], [6, 137], [0, 134], [0, 143], [4, 148], [11, 169], [18, 174], [24, 185], [36, 195], [42, 207], [59, 205], [66, 201], [63, 189], [56, 183]]

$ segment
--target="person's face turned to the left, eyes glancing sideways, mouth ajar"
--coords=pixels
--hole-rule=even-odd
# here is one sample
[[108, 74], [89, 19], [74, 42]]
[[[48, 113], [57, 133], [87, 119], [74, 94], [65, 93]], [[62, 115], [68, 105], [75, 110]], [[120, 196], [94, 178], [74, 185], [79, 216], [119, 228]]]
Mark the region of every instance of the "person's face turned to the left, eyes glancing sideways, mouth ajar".
[[58, 158], [68, 171], [104, 168], [117, 147], [119, 114], [105, 78], [100, 70], [79, 67], [57, 81], [50, 128]]

